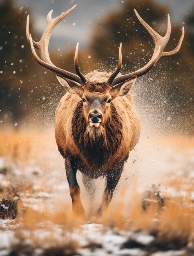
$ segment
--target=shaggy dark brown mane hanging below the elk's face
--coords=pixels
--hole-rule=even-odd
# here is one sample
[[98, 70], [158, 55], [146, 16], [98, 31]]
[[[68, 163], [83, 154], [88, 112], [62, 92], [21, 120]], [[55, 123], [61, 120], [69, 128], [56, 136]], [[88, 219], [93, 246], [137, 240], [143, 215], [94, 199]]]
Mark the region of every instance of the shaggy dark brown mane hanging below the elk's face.
[[72, 137], [80, 150], [81, 157], [91, 166], [100, 168], [109, 157], [116, 153], [123, 139], [122, 119], [114, 104], [110, 105], [110, 115], [105, 127], [86, 127], [83, 116], [83, 101], [79, 101], [71, 121]]

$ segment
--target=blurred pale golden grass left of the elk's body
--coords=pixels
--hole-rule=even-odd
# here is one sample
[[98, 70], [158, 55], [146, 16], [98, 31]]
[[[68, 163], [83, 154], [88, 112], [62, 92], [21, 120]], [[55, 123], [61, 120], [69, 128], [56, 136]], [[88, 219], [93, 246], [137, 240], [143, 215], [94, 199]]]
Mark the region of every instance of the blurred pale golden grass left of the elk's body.
[[31, 162], [41, 163], [47, 169], [47, 154], [52, 152], [56, 142], [51, 131], [5, 131], [0, 130], [0, 157], [15, 164], [25, 165]]

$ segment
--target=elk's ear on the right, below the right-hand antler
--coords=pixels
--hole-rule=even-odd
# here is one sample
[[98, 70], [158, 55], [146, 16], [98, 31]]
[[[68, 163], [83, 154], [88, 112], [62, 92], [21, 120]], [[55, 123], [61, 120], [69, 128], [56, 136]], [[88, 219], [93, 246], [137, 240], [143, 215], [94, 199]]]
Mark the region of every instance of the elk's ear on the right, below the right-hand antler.
[[113, 87], [110, 90], [110, 94], [112, 99], [118, 97], [118, 96], [124, 96], [125, 94], [127, 94], [127, 92], [129, 92], [131, 90], [131, 88], [133, 87], [135, 81], [136, 81], [137, 76], [133, 76], [132, 78], [119, 83], [118, 85], [116, 85], [115, 87]]

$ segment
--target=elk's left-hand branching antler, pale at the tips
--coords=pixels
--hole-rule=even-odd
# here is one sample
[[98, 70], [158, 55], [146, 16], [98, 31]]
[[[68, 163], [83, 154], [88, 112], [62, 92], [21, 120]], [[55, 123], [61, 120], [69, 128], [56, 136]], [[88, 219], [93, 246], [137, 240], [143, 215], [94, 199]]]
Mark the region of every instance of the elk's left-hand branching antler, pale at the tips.
[[[86, 83], [86, 79], [84, 77], [84, 75], [81, 72], [78, 72], [79, 67], [78, 67], [78, 49], [76, 49], [76, 54], [75, 54], [75, 65], [76, 65], [76, 72], [79, 75], [73, 74], [71, 72], [68, 72], [66, 70], [62, 70], [59, 67], [56, 67], [50, 60], [49, 57], [49, 40], [51, 37], [51, 33], [53, 31], [53, 29], [56, 27], [56, 25], [63, 19], [65, 18], [65, 16], [67, 16], [71, 11], [74, 10], [74, 8], [76, 7], [76, 4], [69, 9], [68, 11], [66, 11], [65, 13], [62, 13], [61, 15], [59, 15], [56, 18], [51, 18], [51, 14], [53, 12], [53, 10], [51, 10], [48, 15], [47, 15], [47, 27], [44, 31], [44, 33], [42, 34], [42, 37], [40, 39], [39, 42], [35, 42], [34, 40], [32, 40], [31, 38], [31, 34], [29, 32], [29, 15], [27, 16], [27, 25], [26, 25], [26, 36], [27, 36], [27, 40], [31, 45], [31, 51], [32, 54], [34, 56], [34, 58], [36, 59], [36, 61], [38, 61], [38, 63], [46, 68], [48, 68], [49, 70], [53, 71], [55, 74], [59, 74], [60, 76], [67, 78], [67, 79], [71, 79], [73, 81], [76, 81], [80, 84], [84, 84]], [[34, 49], [34, 47], [36, 47], [39, 52], [40, 52], [40, 57], [41, 59], [38, 57], [38, 55], [36, 54], [36, 51]]]

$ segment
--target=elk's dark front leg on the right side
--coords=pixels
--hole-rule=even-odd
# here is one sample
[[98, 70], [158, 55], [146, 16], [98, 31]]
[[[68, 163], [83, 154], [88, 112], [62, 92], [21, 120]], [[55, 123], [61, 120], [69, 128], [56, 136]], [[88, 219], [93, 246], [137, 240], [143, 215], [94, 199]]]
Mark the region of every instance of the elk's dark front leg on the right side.
[[102, 214], [102, 211], [106, 210], [112, 200], [114, 189], [120, 180], [120, 175], [123, 171], [124, 162], [117, 166], [115, 169], [111, 170], [109, 175], [107, 175], [107, 185], [103, 193], [103, 201], [98, 209], [98, 214]]

